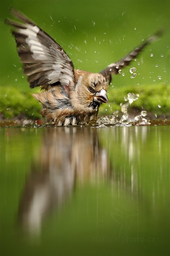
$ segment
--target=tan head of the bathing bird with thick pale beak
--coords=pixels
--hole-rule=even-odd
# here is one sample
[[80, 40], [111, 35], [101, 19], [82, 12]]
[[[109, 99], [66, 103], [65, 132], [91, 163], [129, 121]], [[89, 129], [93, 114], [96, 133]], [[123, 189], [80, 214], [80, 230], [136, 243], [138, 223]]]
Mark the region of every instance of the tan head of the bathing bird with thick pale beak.
[[108, 102], [108, 81], [99, 73], [85, 73], [77, 82], [77, 97], [83, 105], [98, 108]]

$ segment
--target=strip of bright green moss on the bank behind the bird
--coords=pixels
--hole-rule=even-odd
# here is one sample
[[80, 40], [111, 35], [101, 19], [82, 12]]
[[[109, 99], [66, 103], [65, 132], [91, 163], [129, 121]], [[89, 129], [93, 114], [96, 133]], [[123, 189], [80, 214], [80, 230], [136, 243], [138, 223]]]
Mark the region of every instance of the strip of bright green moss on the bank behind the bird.
[[[133, 102], [130, 108], [144, 109], [156, 113], [158, 116], [163, 114], [170, 116], [170, 87], [165, 84], [109, 87], [109, 103], [101, 106], [99, 114], [108, 115], [114, 110], [120, 111], [120, 103], [125, 102], [124, 97], [127, 96], [127, 93], [139, 94], [139, 99]], [[39, 119], [41, 117], [40, 109], [40, 103], [31, 96], [29, 91], [20, 92], [14, 87], [0, 87], [0, 113], [4, 118], [24, 115], [31, 119]]]

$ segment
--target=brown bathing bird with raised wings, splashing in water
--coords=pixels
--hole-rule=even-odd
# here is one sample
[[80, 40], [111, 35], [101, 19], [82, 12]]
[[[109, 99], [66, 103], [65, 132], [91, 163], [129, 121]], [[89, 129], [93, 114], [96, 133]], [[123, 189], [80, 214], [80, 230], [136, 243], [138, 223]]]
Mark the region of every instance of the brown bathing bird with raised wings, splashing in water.
[[74, 69], [64, 49], [22, 12], [12, 7], [10, 13], [19, 20], [6, 18], [5, 22], [13, 27], [23, 73], [31, 88], [40, 86], [43, 90], [32, 96], [42, 104], [42, 116], [54, 125], [87, 125], [96, 118], [99, 107], [108, 102], [112, 74], [119, 74], [161, 35], [156, 32], [119, 61], [91, 73]]

